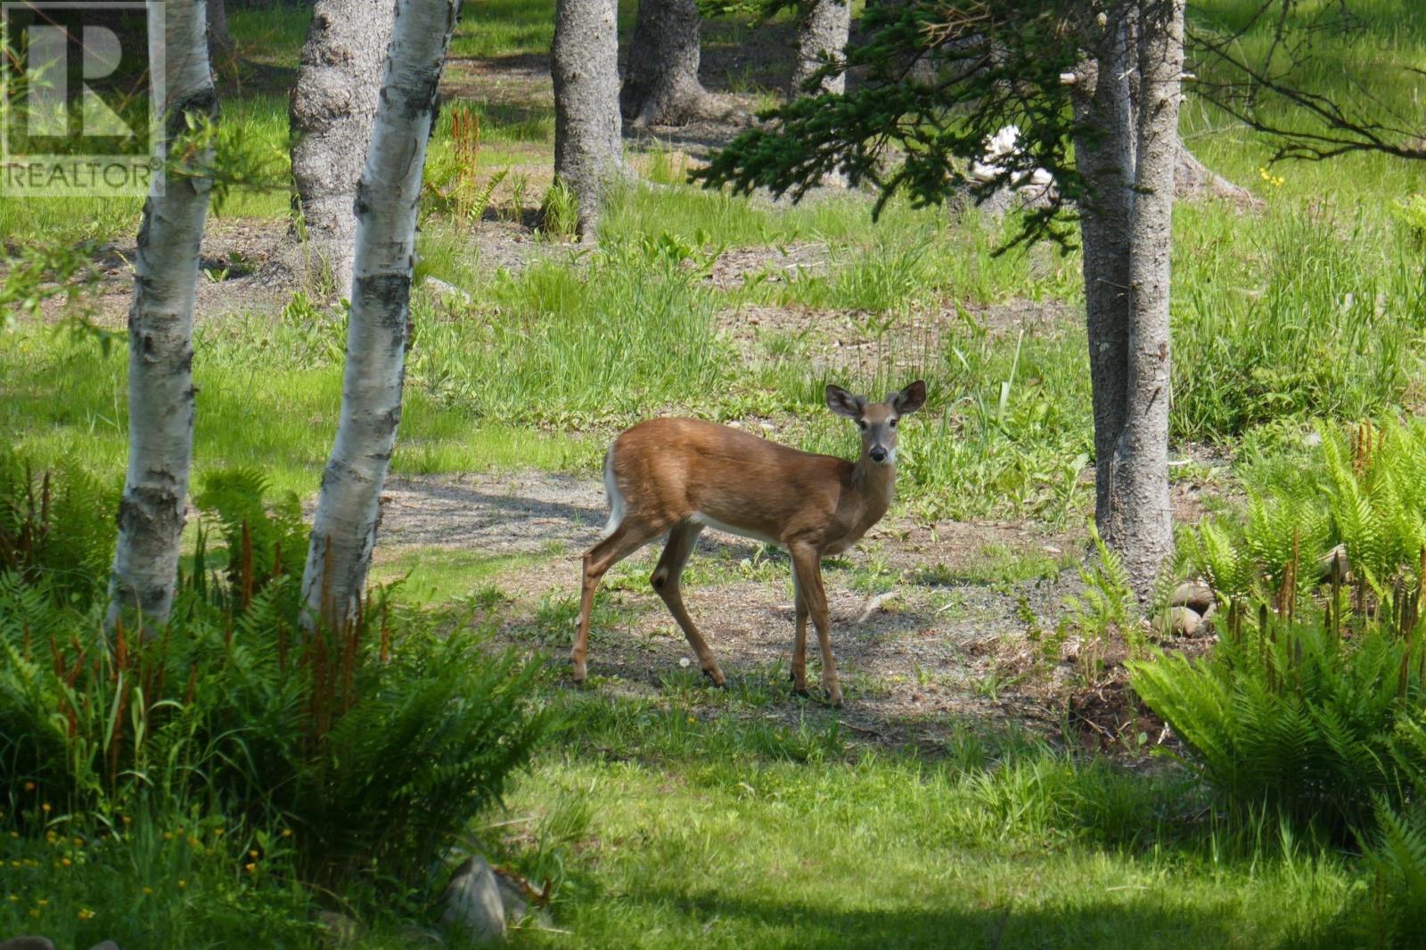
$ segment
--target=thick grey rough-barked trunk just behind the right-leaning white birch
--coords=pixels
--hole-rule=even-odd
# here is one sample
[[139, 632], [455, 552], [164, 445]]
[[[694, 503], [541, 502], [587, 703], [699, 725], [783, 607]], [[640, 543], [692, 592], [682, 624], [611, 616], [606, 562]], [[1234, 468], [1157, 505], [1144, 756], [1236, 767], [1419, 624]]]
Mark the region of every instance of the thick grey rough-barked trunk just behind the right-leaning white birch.
[[292, 178], [311, 264], [351, 297], [356, 181], [366, 161], [392, 0], [317, 0], [292, 87]]

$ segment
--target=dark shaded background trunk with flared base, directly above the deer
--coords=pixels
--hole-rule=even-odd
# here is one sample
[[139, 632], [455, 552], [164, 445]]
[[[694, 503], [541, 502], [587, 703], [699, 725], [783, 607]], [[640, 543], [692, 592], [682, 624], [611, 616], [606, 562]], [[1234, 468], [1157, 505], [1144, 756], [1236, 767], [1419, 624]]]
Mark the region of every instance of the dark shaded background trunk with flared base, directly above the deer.
[[633, 126], [682, 126], [709, 103], [699, 81], [697, 0], [639, 0], [619, 108]]

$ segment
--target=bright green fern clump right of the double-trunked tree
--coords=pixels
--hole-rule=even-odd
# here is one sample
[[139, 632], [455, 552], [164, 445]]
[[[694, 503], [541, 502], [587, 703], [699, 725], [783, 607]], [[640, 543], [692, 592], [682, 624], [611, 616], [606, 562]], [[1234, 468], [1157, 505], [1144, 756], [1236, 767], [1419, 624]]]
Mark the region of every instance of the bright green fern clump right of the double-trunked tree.
[[[1426, 427], [1322, 431], [1313, 464], [1192, 532], [1221, 639], [1134, 663], [1132, 682], [1231, 805], [1345, 839], [1426, 790], [1426, 755], [1402, 746], [1426, 702], [1423, 464]], [[1348, 566], [1325, 571], [1335, 545]]]

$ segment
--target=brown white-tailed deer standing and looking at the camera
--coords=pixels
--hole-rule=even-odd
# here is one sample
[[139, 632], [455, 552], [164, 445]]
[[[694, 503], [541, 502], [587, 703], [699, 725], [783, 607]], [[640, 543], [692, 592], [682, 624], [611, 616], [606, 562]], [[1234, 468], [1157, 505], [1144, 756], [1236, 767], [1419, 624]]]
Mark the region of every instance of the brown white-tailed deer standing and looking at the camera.
[[683, 628], [703, 672], [714, 685], [724, 685], [723, 670], [689, 619], [679, 592], [679, 576], [699, 533], [713, 526], [781, 545], [791, 555], [797, 591], [793, 688], [807, 695], [811, 616], [821, 646], [821, 685], [829, 700], [840, 706], [821, 558], [846, 551], [881, 521], [896, 488], [897, 419], [923, 402], [925, 384], [920, 379], [886, 402], [867, 402], [829, 385], [827, 408], [861, 428], [861, 458], [856, 462], [800, 452], [702, 419], [649, 419], [620, 434], [605, 455], [609, 525], [585, 553], [579, 630], [570, 652], [575, 682], [588, 676], [589, 612], [599, 581], [609, 568], [667, 533], [650, 582]]

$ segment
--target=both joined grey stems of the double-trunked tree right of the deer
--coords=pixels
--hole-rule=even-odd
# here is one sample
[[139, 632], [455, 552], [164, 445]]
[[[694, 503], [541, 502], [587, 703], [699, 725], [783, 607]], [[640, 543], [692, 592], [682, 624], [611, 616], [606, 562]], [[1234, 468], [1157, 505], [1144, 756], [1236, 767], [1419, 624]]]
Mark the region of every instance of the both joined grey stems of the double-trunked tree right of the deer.
[[1127, 0], [1087, 27], [1075, 155], [1094, 401], [1095, 525], [1147, 602], [1174, 543], [1169, 251], [1184, 0]]

